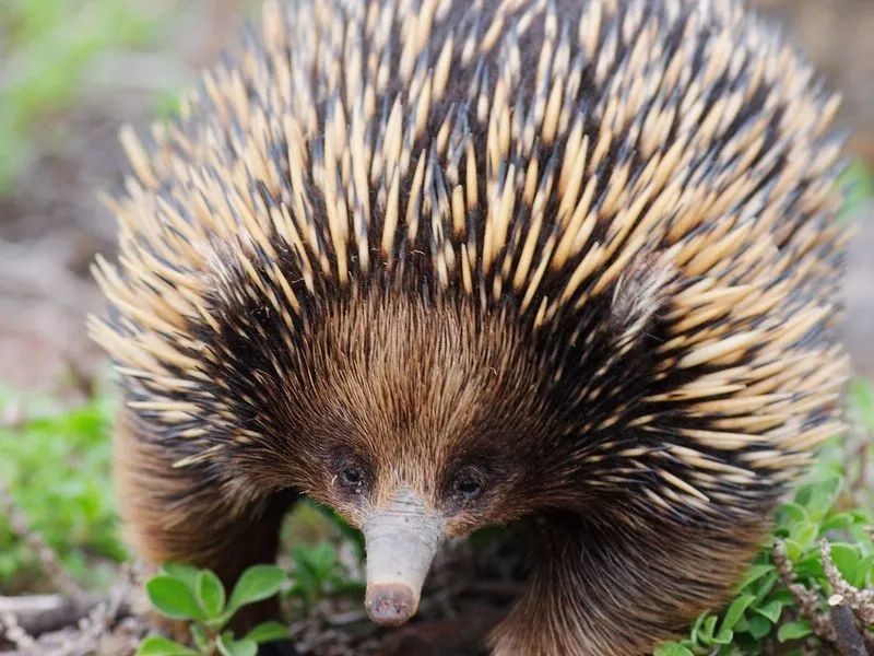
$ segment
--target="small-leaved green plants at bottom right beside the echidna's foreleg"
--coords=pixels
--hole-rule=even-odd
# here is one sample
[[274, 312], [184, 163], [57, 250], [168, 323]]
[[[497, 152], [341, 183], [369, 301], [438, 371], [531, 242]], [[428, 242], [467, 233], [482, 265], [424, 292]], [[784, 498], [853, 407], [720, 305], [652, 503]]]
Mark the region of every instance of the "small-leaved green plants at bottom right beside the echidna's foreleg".
[[688, 637], [661, 645], [656, 656], [756, 655], [778, 648], [780, 654], [802, 654], [803, 641], [823, 646], [826, 609], [835, 591], [827, 567], [834, 563], [855, 588], [874, 585], [874, 517], [845, 507], [843, 479], [835, 473], [840, 467], [830, 457], [836, 452], [837, 444], [827, 445], [794, 500], [781, 506], [771, 542], [728, 607], [699, 616]]

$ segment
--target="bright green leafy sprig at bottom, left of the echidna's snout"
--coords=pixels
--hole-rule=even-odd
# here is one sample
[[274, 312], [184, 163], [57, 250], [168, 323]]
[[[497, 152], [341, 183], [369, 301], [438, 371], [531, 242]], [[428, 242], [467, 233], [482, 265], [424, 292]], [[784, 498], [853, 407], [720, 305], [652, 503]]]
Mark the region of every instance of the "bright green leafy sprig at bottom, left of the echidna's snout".
[[286, 626], [275, 621], [262, 622], [243, 637], [226, 626], [240, 608], [273, 597], [285, 581], [280, 567], [253, 565], [243, 573], [228, 598], [211, 571], [164, 565], [163, 572], [145, 584], [149, 599], [164, 617], [191, 622], [194, 647], [152, 635], [140, 644], [138, 656], [255, 656], [260, 643], [287, 637]]

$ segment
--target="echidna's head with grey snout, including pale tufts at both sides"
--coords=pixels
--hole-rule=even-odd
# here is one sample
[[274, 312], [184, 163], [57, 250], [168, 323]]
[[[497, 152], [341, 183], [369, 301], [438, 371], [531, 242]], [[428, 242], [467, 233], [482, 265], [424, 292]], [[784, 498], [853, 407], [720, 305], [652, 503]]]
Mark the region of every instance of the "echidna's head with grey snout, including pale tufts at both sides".
[[623, 511], [612, 454], [639, 440], [628, 425], [645, 412], [635, 399], [653, 378], [669, 271], [624, 277], [554, 329], [509, 295], [481, 304], [378, 278], [283, 315], [263, 302], [280, 290], [252, 286], [262, 273], [224, 269], [212, 320], [190, 330], [203, 382], [181, 395], [192, 419], [178, 430], [209, 432], [178, 441], [191, 454], [180, 465], [205, 464], [241, 506], [294, 489], [362, 528], [377, 622], [415, 612], [446, 538], [539, 512]]

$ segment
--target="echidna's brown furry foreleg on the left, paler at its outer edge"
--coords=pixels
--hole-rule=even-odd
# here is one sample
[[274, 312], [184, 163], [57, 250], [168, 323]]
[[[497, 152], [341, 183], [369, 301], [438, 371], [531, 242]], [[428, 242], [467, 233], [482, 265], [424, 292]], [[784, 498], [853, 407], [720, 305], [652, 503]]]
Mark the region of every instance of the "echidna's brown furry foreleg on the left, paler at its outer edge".
[[[292, 495], [234, 509], [203, 472], [174, 468], [166, 447], [123, 415], [118, 423], [115, 478], [126, 537], [137, 553], [152, 565], [172, 561], [209, 567], [228, 589], [247, 566], [275, 560]], [[243, 613], [235, 617], [237, 628], [275, 619], [276, 607], [262, 604]]]

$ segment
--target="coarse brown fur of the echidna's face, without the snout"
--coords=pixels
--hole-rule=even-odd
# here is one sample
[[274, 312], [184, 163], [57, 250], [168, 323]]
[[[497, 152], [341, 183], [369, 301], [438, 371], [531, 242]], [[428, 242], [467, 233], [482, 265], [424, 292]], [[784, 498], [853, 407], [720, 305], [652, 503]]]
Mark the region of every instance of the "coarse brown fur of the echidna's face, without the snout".
[[555, 411], [511, 323], [379, 293], [323, 312], [286, 375], [243, 384], [258, 405], [234, 413], [269, 437], [222, 457], [234, 485], [293, 482], [355, 526], [408, 487], [449, 535], [515, 518], [546, 494], [547, 472], [525, 464], [547, 466]]

